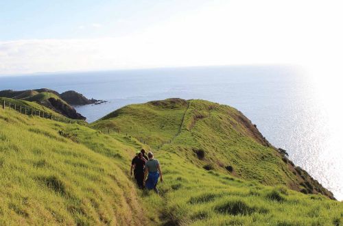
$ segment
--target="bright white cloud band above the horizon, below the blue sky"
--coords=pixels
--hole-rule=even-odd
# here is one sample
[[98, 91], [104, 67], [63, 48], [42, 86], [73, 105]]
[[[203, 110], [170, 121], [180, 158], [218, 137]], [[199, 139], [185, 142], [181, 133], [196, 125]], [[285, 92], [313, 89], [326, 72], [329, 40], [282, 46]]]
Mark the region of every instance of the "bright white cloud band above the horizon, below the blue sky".
[[[0, 74], [218, 64], [340, 67], [340, 2], [214, 1], [119, 38], [0, 42]], [[99, 28], [101, 24], [81, 25]]]

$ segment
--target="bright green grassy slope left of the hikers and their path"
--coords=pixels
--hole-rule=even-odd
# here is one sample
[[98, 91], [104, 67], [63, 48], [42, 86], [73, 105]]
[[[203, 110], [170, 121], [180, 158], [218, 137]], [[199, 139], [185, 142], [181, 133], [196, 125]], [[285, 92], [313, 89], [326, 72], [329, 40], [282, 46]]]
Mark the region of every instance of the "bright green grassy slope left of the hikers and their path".
[[0, 127], [0, 225], [147, 223], [128, 178], [134, 139], [2, 109]]

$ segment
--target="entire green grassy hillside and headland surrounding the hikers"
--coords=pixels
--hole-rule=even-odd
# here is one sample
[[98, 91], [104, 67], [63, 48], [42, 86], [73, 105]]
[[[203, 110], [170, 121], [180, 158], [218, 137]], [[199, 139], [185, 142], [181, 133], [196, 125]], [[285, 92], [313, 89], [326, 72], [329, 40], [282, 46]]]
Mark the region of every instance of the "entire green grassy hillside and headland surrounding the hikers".
[[[93, 128], [0, 109], [0, 127], [0, 225], [343, 222], [343, 203], [225, 105], [181, 99], [129, 105]], [[160, 196], [138, 190], [130, 178], [130, 159], [141, 147], [161, 162]]]

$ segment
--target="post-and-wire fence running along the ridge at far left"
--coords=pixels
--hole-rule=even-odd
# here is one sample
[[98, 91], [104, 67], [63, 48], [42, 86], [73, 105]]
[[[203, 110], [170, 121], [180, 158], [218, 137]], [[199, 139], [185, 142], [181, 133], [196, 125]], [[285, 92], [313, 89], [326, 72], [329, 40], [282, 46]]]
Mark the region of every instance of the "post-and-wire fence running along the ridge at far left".
[[43, 110], [37, 110], [36, 108], [28, 108], [27, 105], [17, 105], [16, 103], [11, 103], [10, 101], [5, 101], [5, 100], [2, 100], [1, 102], [2, 102], [1, 108], [3, 110], [6, 110], [6, 109], [14, 110], [16, 112], [19, 112], [21, 114], [25, 114], [28, 116], [38, 116], [40, 118], [47, 118], [47, 119], [62, 122], [62, 123], [75, 123], [75, 121], [71, 119], [55, 116], [51, 112], [49, 113]]

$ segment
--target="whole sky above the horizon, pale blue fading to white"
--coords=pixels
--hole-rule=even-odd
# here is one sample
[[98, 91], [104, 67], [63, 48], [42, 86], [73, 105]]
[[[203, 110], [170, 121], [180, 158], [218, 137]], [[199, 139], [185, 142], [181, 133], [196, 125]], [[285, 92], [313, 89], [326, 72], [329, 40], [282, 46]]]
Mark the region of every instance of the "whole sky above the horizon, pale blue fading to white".
[[335, 0], [0, 0], [0, 75], [237, 64], [336, 75], [342, 21]]

